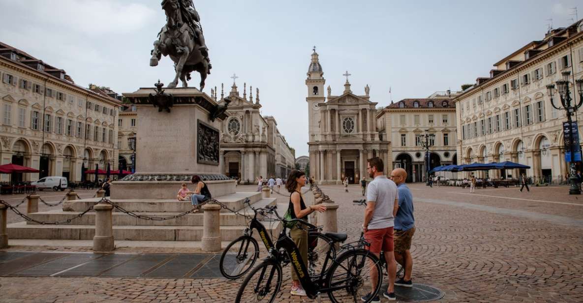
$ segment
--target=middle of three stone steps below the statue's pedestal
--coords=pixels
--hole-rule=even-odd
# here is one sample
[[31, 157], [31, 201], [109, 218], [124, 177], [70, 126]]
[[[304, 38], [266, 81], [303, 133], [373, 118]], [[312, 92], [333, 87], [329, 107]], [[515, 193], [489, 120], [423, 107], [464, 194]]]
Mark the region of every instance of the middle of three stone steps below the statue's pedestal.
[[[259, 208], [265, 206], [275, 205], [276, 199], [275, 198], [266, 198], [261, 199], [258, 202], [252, 204], [252, 207]], [[44, 222], [55, 222], [55, 221], [62, 221], [67, 220], [70, 218], [74, 218], [78, 216], [82, 212], [64, 212], [62, 210], [50, 210], [47, 212], [38, 212], [38, 213], [31, 213], [29, 217], [34, 220], [44, 221]], [[252, 211], [251, 207], [246, 207], [245, 209], [240, 211], [241, 214], [245, 214], [247, 216], [253, 216], [254, 212]], [[148, 217], [170, 217], [180, 213], [174, 212], [139, 212], [137, 214], [141, 214], [143, 216]], [[128, 214], [121, 213], [121, 212], [113, 212], [112, 219], [114, 226], [202, 226], [203, 224], [203, 213], [191, 213], [187, 214], [182, 217], [178, 217], [176, 219], [170, 220], [145, 220], [145, 219], [138, 219]], [[248, 219], [244, 216], [238, 216], [237, 214], [227, 212], [227, 213], [220, 213], [220, 224], [221, 226], [244, 226], [247, 224]], [[27, 224], [30, 225], [38, 225], [32, 221], [26, 221]], [[82, 217], [77, 217], [71, 221], [71, 223], [65, 223], [68, 225], [94, 225], [95, 224], [95, 213], [88, 212]], [[64, 225], [65, 225], [64, 224]]]

